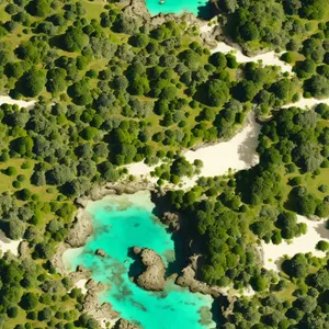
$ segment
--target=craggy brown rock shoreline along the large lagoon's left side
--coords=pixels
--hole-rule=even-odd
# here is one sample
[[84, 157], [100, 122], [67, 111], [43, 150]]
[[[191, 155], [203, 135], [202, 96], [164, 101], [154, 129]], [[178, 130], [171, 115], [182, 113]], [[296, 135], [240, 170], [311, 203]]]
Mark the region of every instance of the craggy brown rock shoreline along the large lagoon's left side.
[[[116, 184], [106, 183], [102, 186], [93, 188], [88, 196], [77, 198], [76, 205], [78, 206], [78, 211], [76, 212], [68, 238], [65, 240], [65, 242], [58, 246], [57, 252], [52, 259], [57, 272], [69, 277], [73, 285], [81, 280], [88, 280], [86, 284], [87, 293], [83, 302], [83, 310], [95, 318], [100, 325], [115, 321], [114, 328], [117, 329], [139, 328], [138, 326], [120, 318], [120, 314], [113, 310], [110, 303], [100, 304], [98, 296], [104, 291], [104, 285], [100, 282], [94, 282], [94, 280], [91, 279], [91, 272], [81, 265], [79, 265], [75, 272], [68, 271], [65, 268], [63, 254], [69, 249], [83, 247], [89, 236], [92, 235], [92, 220], [86, 211], [86, 207], [90, 201], [101, 200], [106, 195], [134, 194], [144, 190], [156, 191], [156, 186], [144, 181], [121, 182]], [[97, 250], [97, 253], [99, 257], [105, 256], [102, 250]], [[146, 261], [149, 261], [148, 257], [146, 258]]]

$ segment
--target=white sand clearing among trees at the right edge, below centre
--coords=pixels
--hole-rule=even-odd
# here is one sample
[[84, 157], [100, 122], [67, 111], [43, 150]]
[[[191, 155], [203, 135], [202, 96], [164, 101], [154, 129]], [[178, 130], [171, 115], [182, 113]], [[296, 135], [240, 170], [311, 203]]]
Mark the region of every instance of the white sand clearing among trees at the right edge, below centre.
[[326, 229], [326, 220], [316, 222], [297, 215], [297, 222], [307, 225], [307, 232], [306, 235], [293, 239], [291, 243], [287, 243], [285, 240], [280, 245], [273, 245], [272, 242], [265, 243], [262, 241], [265, 269], [279, 271], [284, 254], [293, 257], [296, 253], [311, 252], [314, 256], [325, 257], [325, 252], [317, 250], [315, 247], [320, 240], [329, 242], [329, 230]]

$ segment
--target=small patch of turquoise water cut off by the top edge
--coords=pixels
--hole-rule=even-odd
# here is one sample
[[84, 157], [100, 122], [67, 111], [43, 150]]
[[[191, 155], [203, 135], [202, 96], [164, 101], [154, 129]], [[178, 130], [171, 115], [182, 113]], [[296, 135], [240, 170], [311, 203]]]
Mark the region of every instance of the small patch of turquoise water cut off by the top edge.
[[195, 16], [198, 14], [198, 8], [204, 7], [207, 0], [166, 0], [163, 4], [159, 0], [146, 0], [146, 7], [151, 15], [162, 13], [181, 14], [183, 12], [191, 12]]

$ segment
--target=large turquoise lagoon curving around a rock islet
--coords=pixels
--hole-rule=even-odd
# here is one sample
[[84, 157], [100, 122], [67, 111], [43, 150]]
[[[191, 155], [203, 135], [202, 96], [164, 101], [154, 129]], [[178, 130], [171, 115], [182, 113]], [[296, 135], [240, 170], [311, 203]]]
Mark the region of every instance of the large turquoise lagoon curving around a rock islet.
[[[90, 203], [87, 211], [93, 218], [94, 232], [82, 251], [70, 257], [70, 268], [81, 264], [90, 269], [95, 281], [110, 287], [101, 294], [101, 302], [111, 303], [121, 317], [144, 329], [215, 328], [211, 296], [193, 294], [173, 283], [168, 283], [163, 292], [146, 292], [129, 280], [134, 260], [128, 254], [134, 246], [154, 249], [167, 264], [174, 260], [171, 235], [152, 215], [152, 208], [148, 191]], [[95, 256], [98, 248], [106, 252], [104, 258]]]

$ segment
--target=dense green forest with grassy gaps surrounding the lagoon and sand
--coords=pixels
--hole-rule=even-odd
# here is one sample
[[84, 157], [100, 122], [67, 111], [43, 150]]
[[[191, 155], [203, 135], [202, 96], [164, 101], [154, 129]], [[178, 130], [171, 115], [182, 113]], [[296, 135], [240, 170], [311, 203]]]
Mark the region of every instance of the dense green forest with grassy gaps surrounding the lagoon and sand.
[[0, 228], [27, 242], [20, 257], [0, 259], [1, 328], [98, 328], [84, 296], [50, 261], [75, 198], [143, 160], [164, 161], [155, 171], [159, 185], [178, 184], [202, 167], [183, 150], [229, 139], [252, 111], [270, 118], [260, 163], [201, 178], [191, 191], [169, 191], [168, 201], [190, 218], [206, 262], [202, 279], [259, 292], [239, 298], [223, 328], [328, 328], [328, 257], [297, 254], [277, 276], [262, 269], [257, 247], [305, 234], [296, 213], [329, 215], [329, 107], [280, 110], [302, 95], [329, 95], [328, 3], [218, 5], [228, 35], [252, 52], [287, 49], [282, 58], [295, 73], [212, 54], [197, 26], [141, 24], [121, 3], [0, 1], [0, 92], [36, 101], [0, 106]]

